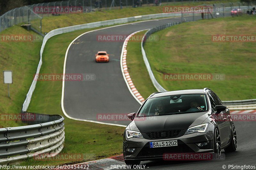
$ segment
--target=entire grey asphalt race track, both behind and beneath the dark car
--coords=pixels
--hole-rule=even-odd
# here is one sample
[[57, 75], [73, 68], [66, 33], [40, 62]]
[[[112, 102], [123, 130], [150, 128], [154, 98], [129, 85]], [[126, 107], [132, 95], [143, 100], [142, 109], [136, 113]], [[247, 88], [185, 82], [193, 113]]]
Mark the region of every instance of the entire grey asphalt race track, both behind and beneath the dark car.
[[[228, 14], [225, 14], [227, 16]], [[201, 16], [195, 17], [200, 19]], [[192, 17], [186, 17], [192, 20]], [[91, 73], [95, 81], [66, 81], [64, 89], [64, 108], [66, 113], [78, 119], [100, 121], [97, 114], [127, 114], [136, 112], [140, 104], [129, 92], [120, 68], [120, 55], [123, 41], [100, 42], [98, 35], [129, 35], [135, 31], [152, 28], [164, 23], [180, 21], [180, 18], [161, 19], [117, 26], [84, 34], [70, 47], [67, 56], [66, 74]], [[96, 63], [97, 51], [110, 54], [109, 63]], [[129, 51], [128, 51], [129, 53]], [[131, 67], [131, 66], [130, 66]], [[103, 121], [127, 125], [127, 121]], [[223, 169], [226, 165], [255, 166], [256, 124], [253, 122], [235, 122], [238, 148], [236, 152], [225, 154], [222, 161], [146, 161], [146, 169]], [[121, 143], [121, 141], [120, 141]], [[148, 167], [148, 168], [147, 168]], [[234, 169], [234, 168], [233, 168]], [[239, 169], [239, 168], [236, 168]], [[241, 169], [241, 168], [240, 168]], [[245, 168], [244, 168], [245, 169]]]

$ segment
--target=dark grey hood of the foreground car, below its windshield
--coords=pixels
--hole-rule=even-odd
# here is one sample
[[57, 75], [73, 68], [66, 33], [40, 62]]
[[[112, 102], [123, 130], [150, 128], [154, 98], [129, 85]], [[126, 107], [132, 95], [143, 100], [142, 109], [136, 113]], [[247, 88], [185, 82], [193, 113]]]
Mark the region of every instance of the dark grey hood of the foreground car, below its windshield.
[[130, 129], [145, 133], [159, 130], [187, 129], [202, 124], [207, 117], [209, 117], [208, 112], [136, 117], [130, 123]]

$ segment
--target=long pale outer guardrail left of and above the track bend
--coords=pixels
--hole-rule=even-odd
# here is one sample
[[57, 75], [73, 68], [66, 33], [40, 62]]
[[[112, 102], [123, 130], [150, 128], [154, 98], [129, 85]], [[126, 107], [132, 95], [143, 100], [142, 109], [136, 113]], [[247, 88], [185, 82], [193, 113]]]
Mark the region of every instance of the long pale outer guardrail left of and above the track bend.
[[[235, 8], [235, 7], [234, 7]], [[247, 6], [241, 6], [241, 9], [247, 9]], [[230, 7], [223, 8], [223, 11], [230, 11]], [[81, 24], [76, 26], [68, 26], [64, 28], [58, 28], [50, 31], [44, 36], [43, 43], [40, 50], [40, 60], [37, 66], [36, 74], [39, 74], [40, 68], [42, 65], [42, 55], [44, 52], [44, 46], [46, 42], [53, 36], [59, 35], [62, 33], [69, 33], [76, 30], [81, 30], [85, 28], [96, 28], [100, 26], [109, 26], [114, 24], [123, 24], [127, 22], [134, 22], [134, 21], [141, 21], [141, 20], [149, 20], [149, 19], [156, 19], [156, 18], [168, 18], [168, 17], [181, 17], [182, 16], [193, 16], [193, 15], [201, 15], [201, 14], [193, 14], [193, 13], [187, 13], [187, 14], [181, 14], [180, 12], [172, 12], [172, 13], [159, 13], [159, 14], [150, 14], [150, 15], [140, 15], [140, 16], [134, 16], [134, 17], [127, 17], [127, 18], [119, 18], [119, 19], [111, 19], [106, 21], [98, 21], [98, 22], [92, 22], [88, 24]], [[22, 111], [26, 112], [32, 97], [32, 94], [36, 88], [36, 80], [32, 81], [32, 84], [30, 85], [30, 88], [28, 90], [26, 99], [22, 106]]]

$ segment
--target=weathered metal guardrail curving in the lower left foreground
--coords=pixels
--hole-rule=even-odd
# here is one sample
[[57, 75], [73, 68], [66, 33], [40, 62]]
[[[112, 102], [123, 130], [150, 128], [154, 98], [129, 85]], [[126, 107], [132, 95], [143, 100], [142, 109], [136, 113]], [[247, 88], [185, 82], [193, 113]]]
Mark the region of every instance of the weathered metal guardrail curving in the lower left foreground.
[[[32, 113], [21, 113], [30, 115]], [[0, 165], [15, 164], [28, 158], [51, 157], [63, 149], [64, 118], [60, 115], [33, 114], [31, 125], [0, 129]], [[42, 119], [43, 117], [43, 119]]]

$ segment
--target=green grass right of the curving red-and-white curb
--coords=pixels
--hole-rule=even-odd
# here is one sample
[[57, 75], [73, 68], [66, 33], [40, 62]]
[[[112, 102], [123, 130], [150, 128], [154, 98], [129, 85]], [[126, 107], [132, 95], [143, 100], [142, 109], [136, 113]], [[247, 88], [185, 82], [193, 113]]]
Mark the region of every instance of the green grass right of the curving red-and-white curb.
[[[213, 42], [212, 35], [255, 35], [255, 24], [255, 17], [246, 15], [183, 23], [154, 33], [159, 41], [146, 42], [144, 49], [156, 80], [168, 91], [209, 87], [221, 100], [254, 99], [255, 42]], [[133, 57], [141, 57], [141, 52], [136, 54]], [[127, 66], [146, 70], [129, 61]], [[164, 73], [221, 73], [225, 80], [171, 81], [164, 80]], [[137, 80], [138, 74], [131, 72], [131, 77], [136, 87], [145, 85]], [[148, 97], [143, 95], [147, 89], [139, 92]]]

